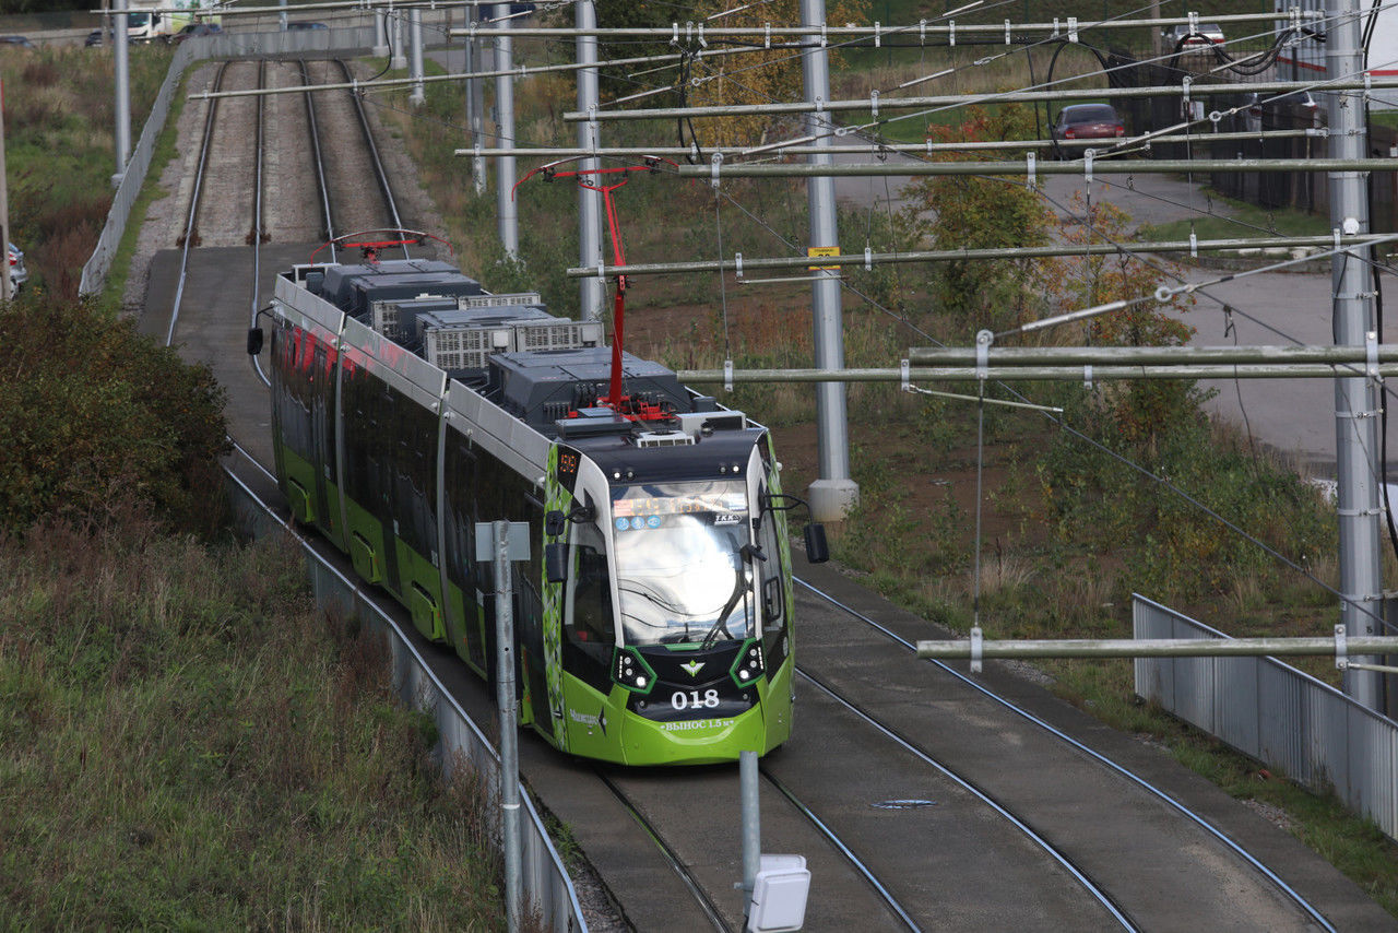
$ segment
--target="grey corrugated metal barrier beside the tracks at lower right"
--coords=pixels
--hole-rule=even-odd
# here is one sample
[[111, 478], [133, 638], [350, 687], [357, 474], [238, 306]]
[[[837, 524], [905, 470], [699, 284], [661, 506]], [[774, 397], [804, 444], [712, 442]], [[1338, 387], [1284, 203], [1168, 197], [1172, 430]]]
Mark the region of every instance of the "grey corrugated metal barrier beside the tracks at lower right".
[[[1135, 638], [1227, 638], [1132, 596]], [[1152, 657], [1135, 691], [1398, 839], [1398, 723], [1274, 657]]]

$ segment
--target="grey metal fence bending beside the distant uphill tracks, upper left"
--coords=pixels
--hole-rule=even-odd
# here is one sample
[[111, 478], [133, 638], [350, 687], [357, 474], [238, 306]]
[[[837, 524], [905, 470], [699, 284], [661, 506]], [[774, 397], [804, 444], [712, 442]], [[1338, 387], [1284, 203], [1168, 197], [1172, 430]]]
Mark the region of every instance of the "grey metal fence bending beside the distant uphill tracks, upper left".
[[126, 224], [131, 215], [131, 207], [141, 193], [145, 175], [151, 168], [151, 158], [155, 152], [155, 141], [165, 129], [165, 119], [169, 116], [171, 101], [179, 88], [180, 77], [194, 62], [206, 59], [236, 59], [261, 57], [267, 55], [296, 55], [309, 52], [337, 52], [366, 50], [373, 43], [373, 27], [336, 27], [329, 29], [294, 29], [273, 32], [233, 32], [222, 35], [190, 39], [182, 42], [175, 49], [171, 69], [165, 74], [155, 105], [141, 130], [141, 138], [131, 150], [131, 158], [126, 164], [126, 175], [112, 199], [112, 210], [108, 211], [106, 225], [98, 236], [96, 249], [82, 266], [82, 281], [78, 284], [78, 294], [94, 295], [102, 291], [106, 276], [112, 269], [112, 259], [122, 245], [126, 234]]

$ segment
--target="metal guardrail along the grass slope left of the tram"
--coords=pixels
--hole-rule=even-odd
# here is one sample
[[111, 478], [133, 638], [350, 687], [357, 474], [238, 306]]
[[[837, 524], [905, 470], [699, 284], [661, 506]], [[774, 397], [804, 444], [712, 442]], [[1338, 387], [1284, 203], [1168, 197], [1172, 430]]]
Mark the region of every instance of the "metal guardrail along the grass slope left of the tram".
[[[239, 523], [256, 536], [287, 530], [287, 526], [231, 471], [228, 490]], [[432, 667], [418, 653], [412, 642], [359, 586], [322, 558], [305, 539], [299, 539], [306, 553], [306, 569], [317, 607], [337, 606], [352, 613], [361, 624], [383, 632], [389, 639], [393, 666], [393, 685], [403, 702], [432, 716], [440, 743], [438, 753], [443, 771], [450, 775], [454, 764], [466, 764], [481, 776], [481, 788], [493, 797], [499, 795], [499, 754], [485, 734], [461, 709], [450, 691], [438, 680]], [[533, 799], [520, 786], [520, 802], [526, 817], [520, 821], [523, 835], [521, 881], [526, 909], [538, 911], [544, 926], [554, 933], [587, 930], [577, 892], [568, 869], [548, 838], [544, 821]]]

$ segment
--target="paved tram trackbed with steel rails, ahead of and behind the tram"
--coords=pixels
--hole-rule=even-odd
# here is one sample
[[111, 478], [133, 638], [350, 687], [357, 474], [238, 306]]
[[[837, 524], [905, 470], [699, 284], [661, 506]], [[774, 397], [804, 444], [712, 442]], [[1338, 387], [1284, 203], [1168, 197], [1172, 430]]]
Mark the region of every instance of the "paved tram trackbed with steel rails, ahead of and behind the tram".
[[[240, 63], [224, 80], [273, 87], [301, 84], [302, 74], [340, 80], [329, 69], [270, 63], [253, 78]], [[197, 235], [187, 239], [211, 238], [217, 222], [240, 231], [228, 245], [249, 238], [254, 246], [264, 239], [275, 245], [295, 229], [292, 217], [327, 227], [302, 242], [400, 227], [396, 214], [386, 220], [380, 192], [391, 194], [391, 185], [377, 154], [359, 147], [345, 158], [343, 150], [355, 141], [345, 129], [356, 127], [359, 117], [351, 113], [352, 95], [334, 97], [270, 98], [260, 117], [247, 117], [242, 138], [214, 133], [215, 120], [232, 124], [231, 109], [211, 113], [208, 155], [200, 164], [211, 162], [214, 150], [240, 148], [240, 162], [218, 164], [228, 165], [229, 175], [235, 168], [246, 173], [242, 194], [226, 196], [243, 206], [243, 215], [212, 221], [192, 207]], [[252, 122], [266, 133], [249, 155]], [[333, 140], [331, 126], [341, 130]], [[252, 168], [259, 164], [260, 180]], [[366, 185], [365, 172], [379, 172], [380, 180]], [[249, 197], [252, 192], [266, 196]], [[256, 252], [252, 277], [264, 283], [275, 269], [259, 270]], [[186, 242], [180, 294], [189, 262]], [[229, 294], [236, 290], [228, 280], [192, 287], [204, 291], [199, 316], [182, 325], [186, 333], [211, 333], [233, 304], [239, 312], [246, 308]], [[254, 311], [257, 294], [254, 284]], [[233, 435], [257, 450], [266, 439], [267, 403], [246, 385], [242, 329], [210, 337], [193, 355], [236, 386]], [[1040, 691], [1011, 684], [1005, 695], [993, 697], [980, 681], [909, 656], [917, 636], [911, 627], [925, 625], [921, 620], [875, 618], [843, 590], [821, 583], [807, 583], [802, 593], [797, 730], [788, 747], [763, 761], [762, 829], [766, 852], [808, 857], [814, 883], [807, 929], [1336, 929], [1321, 906], [1267, 869], [1264, 856], [1250, 855], [1248, 842], [1211, 832], [1219, 814], [1174, 806], [1173, 799], [1187, 796], [1180, 788], [1134, 778], [1138, 762], [1118, 764], [1113, 758], [1121, 755], [1093, 753], [1069, 739], [1072, 730], [1050, 722], [1057, 713], [1044, 713], [1043, 705], [1055, 701]], [[485, 687], [460, 676], [447, 653], [436, 655], [454, 674], [463, 704], [493, 729]], [[1026, 702], [1030, 694], [1035, 699]], [[734, 768], [591, 768], [541, 743], [527, 744], [530, 781], [555, 811], [569, 807], [559, 795], [610, 802], [568, 811], [568, 821], [640, 929], [741, 929], [741, 898], [733, 891], [741, 876]], [[615, 852], [590, 845], [615, 832], [628, 841]], [[637, 906], [656, 898], [664, 902], [658, 913]]]

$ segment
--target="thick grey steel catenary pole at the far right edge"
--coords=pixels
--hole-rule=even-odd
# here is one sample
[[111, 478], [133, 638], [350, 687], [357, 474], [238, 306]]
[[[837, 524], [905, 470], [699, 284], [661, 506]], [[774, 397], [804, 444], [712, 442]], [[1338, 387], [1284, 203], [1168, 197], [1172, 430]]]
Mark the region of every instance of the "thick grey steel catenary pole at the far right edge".
[[[1328, 74], [1357, 77], [1364, 70], [1357, 0], [1327, 0]], [[1357, 94], [1325, 94], [1331, 151], [1336, 158], [1366, 155], [1364, 102]], [[1346, 234], [1369, 232], [1367, 175], [1329, 175], [1331, 225]], [[1356, 246], [1332, 259], [1334, 332], [1336, 344], [1362, 346], [1374, 330], [1370, 250]], [[1383, 607], [1380, 567], [1378, 393], [1364, 378], [1335, 380], [1335, 478], [1339, 508], [1341, 621], [1352, 638], [1377, 635], [1374, 617]], [[1374, 657], [1356, 657], [1374, 663]], [[1383, 709], [1383, 681], [1376, 671], [1346, 670], [1345, 692], [1369, 709]]]

